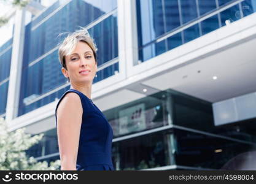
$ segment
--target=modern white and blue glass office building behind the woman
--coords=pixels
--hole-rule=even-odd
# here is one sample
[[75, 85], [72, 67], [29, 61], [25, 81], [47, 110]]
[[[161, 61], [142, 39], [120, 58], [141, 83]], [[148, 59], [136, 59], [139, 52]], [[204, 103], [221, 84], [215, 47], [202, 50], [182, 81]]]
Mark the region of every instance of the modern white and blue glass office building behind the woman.
[[[234, 158], [255, 150], [256, 88], [251, 71], [256, 64], [253, 52], [238, 53], [243, 58], [237, 56], [239, 61], [229, 53], [251, 48], [247, 42], [253, 45], [254, 33], [246, 31], [254, 26], [255, 12], [252, 0], [55, 1], [24, 25], [17, 113], [9, 123], [33, 134], [44, 132], [42, 141], [27, 150], [29, 155], [39, 161], [60, 158], [54, 108], [69, 83], [61, 73], [58, 44], [82, 26], [98, 48], [93, 100], [114, 131], [115, 169], [243, 169]], [[241, 39], [226, 41], [238, 27]], [[7, 94], [13, 88], [12, 40], [0, 47], [4, 118], [10, 114]], [[202, 54], [189, 58], [193, 52]], [[232, 72], [230, 66], [242, 70], [245, 64], [239, 62], [252, 65], [244, 69], [249, 77], [234, 83], [239, 71]], [[214, 71], [215, 80], [222, 68], [227, 75], [222, 85], [206, 82], [208, 73]]]

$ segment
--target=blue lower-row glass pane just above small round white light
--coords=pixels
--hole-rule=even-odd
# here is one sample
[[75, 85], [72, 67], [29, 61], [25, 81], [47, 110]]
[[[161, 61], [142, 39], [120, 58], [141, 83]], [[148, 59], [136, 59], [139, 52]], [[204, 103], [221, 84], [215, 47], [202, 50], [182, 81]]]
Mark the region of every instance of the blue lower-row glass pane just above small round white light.
[[236, 21], [238, 20], [240, 17], [238, 15], [239, 13], [239, 6], [238, 4], [235, 6], [230, 7], [227, 10], [224, 10], [223, 12], [220, 12], [220, 18], [222, 21], [222, 26], [225, 26], [226, 20], [230, 20], [230, 22]]

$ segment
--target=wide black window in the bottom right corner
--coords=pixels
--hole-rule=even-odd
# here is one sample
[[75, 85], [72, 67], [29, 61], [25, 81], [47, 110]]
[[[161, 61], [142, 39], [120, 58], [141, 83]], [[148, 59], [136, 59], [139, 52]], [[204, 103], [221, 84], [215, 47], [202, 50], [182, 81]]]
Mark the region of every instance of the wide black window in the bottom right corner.
[[[233, 159], [241, 153], [255, 150], [255, 146], [250, 144], [242, 144], [241, 142], [195, 132], [175, 129], [174, 135], [177, 142], [176, 164], [182, 166], [200, 167], [201, 169], [229, 168], [232, 170], [236, 168], [235, 170], [241, 170], [251, 159], [243, 158], [239, 161], [236, 160], [236, 162]], [[231, 161], [233, 161], [232, 164]], [[232, 165], [233, 167], [230, 167]]]

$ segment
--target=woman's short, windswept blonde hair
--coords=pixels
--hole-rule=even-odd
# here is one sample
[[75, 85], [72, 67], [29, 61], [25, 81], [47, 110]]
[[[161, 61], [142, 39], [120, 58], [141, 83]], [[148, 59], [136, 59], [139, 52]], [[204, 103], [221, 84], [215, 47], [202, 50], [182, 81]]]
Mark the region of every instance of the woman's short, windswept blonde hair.
[[61, 42], [59, 47], [59, 60], [61, 65], [67, 69], [65, 56], [71, 55], [71, 52], [76, 48], [78, 42], [85, 42], [91, 50], [93, 50], [93, 56], [95, 57], [95, 62], [97, 63], [96, 58], [96, 45], [93, 42], [93, 39], [90, 37], [87, 29], [80, 27], [81, 29], [75, 31], [72, 34], [68, 34], [68, 36]]

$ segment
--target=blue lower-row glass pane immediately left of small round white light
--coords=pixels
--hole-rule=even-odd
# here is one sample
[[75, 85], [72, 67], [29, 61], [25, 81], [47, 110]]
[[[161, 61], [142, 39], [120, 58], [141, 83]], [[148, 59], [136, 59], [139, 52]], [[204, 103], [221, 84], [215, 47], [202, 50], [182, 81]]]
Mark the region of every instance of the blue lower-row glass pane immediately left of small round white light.
[[210, 33], [219, 28], [218, 16], [214, 15], [204, 21], [201, 21], [202, 34]]

